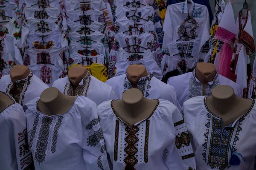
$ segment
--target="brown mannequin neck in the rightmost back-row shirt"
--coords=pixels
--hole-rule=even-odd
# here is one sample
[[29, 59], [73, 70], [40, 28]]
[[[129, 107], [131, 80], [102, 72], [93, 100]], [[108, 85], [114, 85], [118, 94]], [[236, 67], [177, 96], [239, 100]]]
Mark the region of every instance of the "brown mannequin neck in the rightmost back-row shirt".
[[212, 82], [216, 75], [215, 65], [212, 63], [198, 62], [195, 69], [195, 77], [203, 85], [203, 94], [208, 82]]

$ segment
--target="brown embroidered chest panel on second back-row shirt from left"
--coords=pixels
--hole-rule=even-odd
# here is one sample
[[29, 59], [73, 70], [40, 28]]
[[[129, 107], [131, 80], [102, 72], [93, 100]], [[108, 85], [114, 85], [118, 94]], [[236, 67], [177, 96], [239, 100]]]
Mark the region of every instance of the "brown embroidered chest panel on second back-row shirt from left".
[[[77, 86], [75, 96], [87, 96], [87, 92], [90, 86], [90, 80], [90, 75], [84, 78], [83, 84]], [[66, 94], [67, 96], [74, 96], [74, 90], [71, 84], [66, 83], [63, 94]]]

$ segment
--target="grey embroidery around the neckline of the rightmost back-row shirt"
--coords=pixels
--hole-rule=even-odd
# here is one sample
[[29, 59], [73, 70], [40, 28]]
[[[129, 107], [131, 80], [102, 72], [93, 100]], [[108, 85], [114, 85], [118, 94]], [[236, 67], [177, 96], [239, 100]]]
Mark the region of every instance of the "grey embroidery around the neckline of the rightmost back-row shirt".
[[215, 78], [213, 79], [212, 85], [209, 85], [207, 83], [205, 87], [205, 94], [203, 94], [203, 85], [200, 82], [197, 82], [195, 79], [195, 69], [192, 72], [192, 76], [189, 79], [189, 98], [196, 97], [196, 96], [211, 96], [212, 95], [212, 90], [221, 85], [221, 83], [218, 80], [218, 72], [216, 73]]

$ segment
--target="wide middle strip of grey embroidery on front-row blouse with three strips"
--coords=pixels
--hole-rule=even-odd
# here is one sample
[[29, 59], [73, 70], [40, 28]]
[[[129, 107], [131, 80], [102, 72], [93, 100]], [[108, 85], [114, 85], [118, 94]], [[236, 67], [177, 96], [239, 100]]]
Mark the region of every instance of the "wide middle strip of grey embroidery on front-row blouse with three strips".
[[38, 134], [38, 141], [36, 144], [35, 161], [41, 164], [45, 161], [46, 150], [49, 138], [49, 128], [52, 124], [52, 118], [43, 117], [42, 125]]

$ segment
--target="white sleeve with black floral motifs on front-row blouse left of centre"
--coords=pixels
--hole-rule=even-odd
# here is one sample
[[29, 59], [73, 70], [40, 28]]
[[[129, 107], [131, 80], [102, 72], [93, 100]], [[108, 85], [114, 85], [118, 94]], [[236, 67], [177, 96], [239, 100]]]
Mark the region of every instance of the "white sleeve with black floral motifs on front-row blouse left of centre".
[[[87, 107], [80, 110], [81, 122], [78, 122], [80, 144], [84, 151], [87, 170], [108, 170], [108, 160], [102, 129], [99, 124], [96, 103], [86, 98]], [[79, 105], [84, 105], [83, 100]]]

